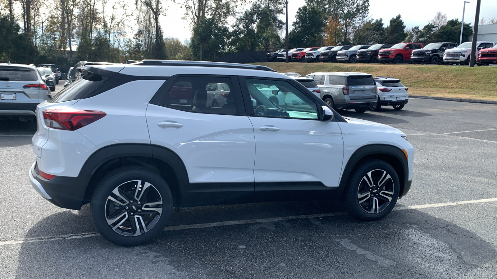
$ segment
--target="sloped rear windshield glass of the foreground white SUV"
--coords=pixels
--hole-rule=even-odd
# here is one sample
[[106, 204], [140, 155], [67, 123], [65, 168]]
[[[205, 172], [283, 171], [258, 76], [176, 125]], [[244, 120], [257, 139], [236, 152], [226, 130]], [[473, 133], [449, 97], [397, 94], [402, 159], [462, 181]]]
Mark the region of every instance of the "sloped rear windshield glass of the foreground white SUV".
[[59, 93], [55, 94], [48, 102], [60, 103], [72, 100], [83, 99], [93, 90], [102, 86], [108, 78], [101, 75], [83, 74], [82, 78], [75, 80], [71, 85], [65, 87]]

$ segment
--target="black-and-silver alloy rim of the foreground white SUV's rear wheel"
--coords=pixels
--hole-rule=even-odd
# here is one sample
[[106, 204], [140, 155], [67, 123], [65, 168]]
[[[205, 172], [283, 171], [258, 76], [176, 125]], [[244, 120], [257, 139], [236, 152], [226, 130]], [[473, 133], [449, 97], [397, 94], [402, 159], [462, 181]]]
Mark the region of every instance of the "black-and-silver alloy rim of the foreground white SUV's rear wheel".
[[161, 194], [142, 180], [125, 182], [112, 190], [105, 202], [105, 219], [115, 232], [138, 236], [152, 229], [163, 209]]

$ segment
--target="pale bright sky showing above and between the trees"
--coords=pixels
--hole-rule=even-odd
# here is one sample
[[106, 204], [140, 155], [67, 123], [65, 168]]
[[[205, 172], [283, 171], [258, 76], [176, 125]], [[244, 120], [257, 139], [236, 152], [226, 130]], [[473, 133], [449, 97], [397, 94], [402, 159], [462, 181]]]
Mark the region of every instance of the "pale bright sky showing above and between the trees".
[[[133, 1], [134, 2], [134, 1]], [[170, 3], [169, 1], [167, 1]], [[399, 13], [404, 19], [407, 28], [419, 25], [422, 28], [430, 19], [435, 16], [437, 11], [447, 14], [447, 19], [461, 19], [463, 13], [463, 0], [369, 0], [369, 15], [374, 18], [383, 18], [386, 27], [389, 20]], [[288, 1], [288, 24], [295, 21], [295, 14], [300, 6], [305, 5], [304, 0]], [[466, 3], [466, 12], [464, 22], [473, 23], [475, 21], [476, 0]], [[181, 41], [189, 40], [191, 36], [188, 22], [183, 21], [181, 17], [184, 9], [179, 5], [170, 3], [166, 10], [166, 16], [161, 19], [161, 26], [164, 30], [165, 37], [178, 38]], [[285, 15], [282, 14], [282, 20]], [[497, 0], [482, 0], [480, 18], [484, 17], [488, 21], [491, 17], [497, 17]], [[231, 20], [230, 20], [231, 21]], [[232, 22], [229, 22], [232, 23]], [[290, 27], [291, 28], [291, 27]]]

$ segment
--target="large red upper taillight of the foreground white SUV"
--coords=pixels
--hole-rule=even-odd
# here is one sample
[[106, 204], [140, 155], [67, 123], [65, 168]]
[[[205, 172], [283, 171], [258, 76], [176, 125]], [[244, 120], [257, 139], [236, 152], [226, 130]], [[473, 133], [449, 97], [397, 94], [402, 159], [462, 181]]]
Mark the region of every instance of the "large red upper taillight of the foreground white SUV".
[[91, 124], [107, 114], [102, 111], [46, 109], [43, 110], [45, 125], [49, 128], [74, 131]]

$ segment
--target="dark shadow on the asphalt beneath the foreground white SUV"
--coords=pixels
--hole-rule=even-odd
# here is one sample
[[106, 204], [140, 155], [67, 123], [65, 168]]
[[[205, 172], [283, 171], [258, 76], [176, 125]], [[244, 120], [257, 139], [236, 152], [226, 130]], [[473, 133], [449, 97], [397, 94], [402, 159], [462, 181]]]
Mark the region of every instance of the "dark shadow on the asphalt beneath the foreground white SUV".
[[[254, 220], [303, 214], [328, 215]], [[92, 232], [90, 220], [88, 206], [65, 210], [25, 238]], [[400, 205], [373, 222], [328, 201], [197, 207], [173, 212], [168, 228], [233, 220], [253, 221], [166, 230], [138, 247], [100, 235], [23, 242], [15, 278], [459, 278], [497, 255], [475, 233]]]

